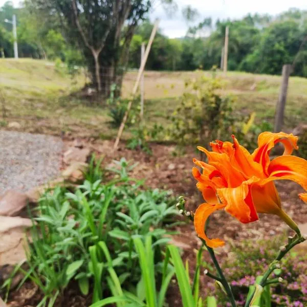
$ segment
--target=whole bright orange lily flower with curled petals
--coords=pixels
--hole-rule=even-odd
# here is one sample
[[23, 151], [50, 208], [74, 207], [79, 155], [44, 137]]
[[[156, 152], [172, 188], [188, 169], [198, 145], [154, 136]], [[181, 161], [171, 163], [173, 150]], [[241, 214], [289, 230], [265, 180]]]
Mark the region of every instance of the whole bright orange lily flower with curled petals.
[[[276, 214], [292, 229], [299, 232], [297, 225], [281, 208], [279, 195], [274, 180], [287, 179], [300, 184], [307, 190], [307, 161], [290, 156], [297, 149], [297, 137], [286, 133], [261, 133], [258, 137], [258, 148], [252, 153], [239, 145], [232, 136], [233, 143], [215, 141], [210, 143], [212, 151], [203, 147], [199, 150], [206, 153], [208, 163], [193, 159], [203, 169], [193, 167], [193, 176], [202, 191], [206, 203], [195, 211], [194, 226], [198, 235], [209, 247], [223, 246], [223, 240], [209, 239], [205, 234], [205, 223], [208, 216], [225, 209], [242, 223], [258, 220], [257, 213]], [[283, 156], [270, 161], [270, 151], [281, 142], [284, 145]], [[300, 198], [307, 202], [307, 193]]]

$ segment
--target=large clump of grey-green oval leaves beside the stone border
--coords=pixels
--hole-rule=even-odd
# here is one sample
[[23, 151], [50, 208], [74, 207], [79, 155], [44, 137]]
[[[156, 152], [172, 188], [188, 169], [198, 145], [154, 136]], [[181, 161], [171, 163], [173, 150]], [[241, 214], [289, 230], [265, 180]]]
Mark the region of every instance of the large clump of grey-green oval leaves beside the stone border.
[[98, 179], [100, 162], [92, 162], [80, 186], [73, 191], [55, 188], [42, 196], [33, 212], [30, 269], [24, 271], [23, 282], [30, 278], [45, 294], [39, 306], [52, 306], [72, 281], [84, 295], [93, 289], [93, 302], [107, 296], [112, 289], [104, 278], [108, 260], [102, 245], [110, 250], [125, 289], [137, 287], [141, 277], [135, 235], [142, 238], [150, 232], [155, 264], [161, 261], [169, 240], [167, 226], [177, 214], [176, 201], [169, 192], [141, 189], [143, 181], [129, 177], [132, 166], [125, 159], [115, 164], [111, 171], [116, 176], [103, 183]]

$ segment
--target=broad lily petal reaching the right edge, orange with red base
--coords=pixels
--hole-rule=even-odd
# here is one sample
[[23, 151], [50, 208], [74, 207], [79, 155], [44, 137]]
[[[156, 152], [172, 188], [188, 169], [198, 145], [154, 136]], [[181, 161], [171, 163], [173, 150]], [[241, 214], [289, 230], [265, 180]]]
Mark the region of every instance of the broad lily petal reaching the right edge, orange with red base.
[[292, 180], [307, 190], [307, 161], [295, 156], [281, 156], [273, 159], [268, 168], [269, 178], [263, 180], [264, 185], [272, 180]]

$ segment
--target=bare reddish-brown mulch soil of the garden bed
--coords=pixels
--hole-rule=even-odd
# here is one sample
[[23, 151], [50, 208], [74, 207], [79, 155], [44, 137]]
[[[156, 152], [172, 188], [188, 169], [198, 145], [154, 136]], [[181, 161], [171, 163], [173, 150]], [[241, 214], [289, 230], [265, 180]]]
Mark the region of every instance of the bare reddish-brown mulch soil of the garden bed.
[[[85, 141], [83, 140], [83, 142]], [[65, 140], [64, 147], [69, 147], [72, 143], [73, 141], [71, 140]], [[113, 141], [92, 141], [86, 143], [86, 146], [91, 146], [97, 155], [104, 157], [104, 167], [111, 166], [113, 160], [119, 160], [122, 157], [131, 161], [131, 164], [138, 162], [138, 165], [130, 173], [132, 178], [145, 179], [145, 186], [147, 187], [171, 189], [174, 195], [183, 195], [189, 210], [195, 210], [198, 204], [202, 202], [200, 192], [196, 189], [195, 180], [191, 175], [192, 158], [198, 157], [198, 153], [193, 148], [190, 148], [183, 156], [176, 156], [175, 146], [152, 144], [152, 155], [149, 156], [142, 151], [125, 148], [124, 143], [120, 143], [119, 149], [113, 152]], [[298, 193], [303, 191], [302, 188], [290, 181], [276, 182], [276, 186], [284, 210], [297, 223], [306, 223], [307, 206], [298, 198]], [[244, 225], [225, 211], [219, 211], [213, 214], [210, 219], [208, 234], [209, 237], [223, 238], [226, 243], [228, 242], [225, 247], [218, 250], [220, 254], [218, 257], [223, 258], [227, 257], [227, 254], [230, 252], [230, 242], [235, 244], [236, 240], [241, 239], [250, 238], [256, 241], [259, 238], [270, 238], [276, 234], [284, 233], [286, 229], [287, 226], [275, 215], [260, 214], [259, 221]], [[179, 226], [176, 230], [178, 230], [179, 234], [174, 235], [173, 243], [183, 249], [183, 258], [184, 260], [189, 260], [192, 273], [195, 264], [195, 250], [200, 247], [200, 240], [196, 237], [191, 223]], [[205, 257], [207, 258], [207, 255]], [[209, 259], [207, 260], [209, 261]], [[206, 277], [203, 277], [202, 286], [206, 287], [207, 282]], [[25, 297], [27, 296], [26, 294], [20, 296], [20, 293], [12, 293], [13, 302], [9, 306], [34, 306], [33, 296], [37, 299], [38, 295], [39, 293], [37, 292], [29, 299], [23, 301], [18, 299], [18, 297]], [[65, 298], [59, 299], [55, 305], [56, 307], [89, 305], [88, 298], [82, 298], [74, 289], [68, 290], [63, 296]], [[181, 306], [179, 292], [174, 283], [172, 283], [168, 292], [168, 301], [172, 302], [170, 306]], [[17, 305], [14, 303], [17, 303]]]

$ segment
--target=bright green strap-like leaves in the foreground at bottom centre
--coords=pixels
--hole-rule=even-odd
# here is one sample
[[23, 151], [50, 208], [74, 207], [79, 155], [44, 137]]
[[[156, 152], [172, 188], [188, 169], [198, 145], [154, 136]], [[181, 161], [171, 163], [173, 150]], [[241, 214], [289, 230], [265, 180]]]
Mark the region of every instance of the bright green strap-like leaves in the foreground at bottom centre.
[[[155, 265], [155, 254], [152, 252], [153, 245], [151, 235], [144, 238], [134, 236], [133, 243], [138, 254], [141, 268], [141, 279], [136, 290], [124, 291], [121, 287], [120, 277], [116, 275], [112, 267], [111, 257], [107, 256], [108, 273], [107, 277], [111, 297], [100, 300], [91, 307], [102, 307], [110, 303], [117, 303], [118, 306], [135, 307], [163, 307], [170, 280], [174, 274], [178, 281], [183, 307], [203, 307], [205, 301], [199, 292], [200, 287], [200, 258], [202, 251], [198, 252], [198, 264], [192, 282], [189, 278], [188, 262], [184, 266], [178, 249], [172, 245], [167, 246], [163, 261]], [[108, 254], [104, 247], [104, 253]], [[157, 274], [158, 273], [158, 274]], [[161, 280], [157, 282], [156, 276]], [[216, 300], [212, 296], [207, 297], [207, 306], [216, 307]]]

